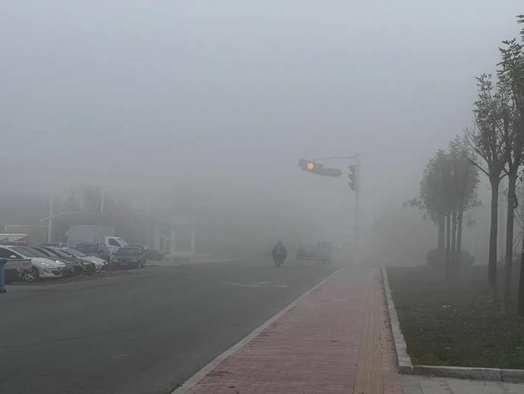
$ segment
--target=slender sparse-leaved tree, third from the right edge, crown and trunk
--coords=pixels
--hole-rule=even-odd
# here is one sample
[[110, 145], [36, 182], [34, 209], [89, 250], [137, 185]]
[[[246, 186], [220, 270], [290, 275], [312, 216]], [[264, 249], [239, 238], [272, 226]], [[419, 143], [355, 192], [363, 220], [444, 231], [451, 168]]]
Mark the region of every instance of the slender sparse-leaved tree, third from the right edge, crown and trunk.
[[500, 92], [493, 87], [491, 76], [482, 74], [476, 78], [479, 97], [474, 103], [475, 125], [465, 130], [465, 137], [474, 153], [471, 162], [488, 176], [491, 186], [490, 241], [488, 249], [488, 283], [492, 288], [493, 301], [497, 294], [497, 225], [499, 185], [506, 175], [507, 150], [500, 132]]

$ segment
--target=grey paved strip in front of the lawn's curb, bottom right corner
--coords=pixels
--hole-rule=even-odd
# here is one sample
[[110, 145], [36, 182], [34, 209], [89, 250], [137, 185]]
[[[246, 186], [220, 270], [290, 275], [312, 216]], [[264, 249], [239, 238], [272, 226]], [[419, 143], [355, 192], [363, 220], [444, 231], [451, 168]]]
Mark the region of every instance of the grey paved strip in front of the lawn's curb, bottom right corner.
[[524, 394], [524, 384], [402, 376], [404, 394]]

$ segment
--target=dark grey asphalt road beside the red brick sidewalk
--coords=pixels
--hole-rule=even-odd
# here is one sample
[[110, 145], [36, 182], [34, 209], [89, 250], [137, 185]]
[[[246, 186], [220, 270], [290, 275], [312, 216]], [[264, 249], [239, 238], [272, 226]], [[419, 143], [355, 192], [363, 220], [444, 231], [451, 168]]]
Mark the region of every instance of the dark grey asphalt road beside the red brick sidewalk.
[[0, 295], [0, 393], [169, 393], [335, 270], [147, 267]]

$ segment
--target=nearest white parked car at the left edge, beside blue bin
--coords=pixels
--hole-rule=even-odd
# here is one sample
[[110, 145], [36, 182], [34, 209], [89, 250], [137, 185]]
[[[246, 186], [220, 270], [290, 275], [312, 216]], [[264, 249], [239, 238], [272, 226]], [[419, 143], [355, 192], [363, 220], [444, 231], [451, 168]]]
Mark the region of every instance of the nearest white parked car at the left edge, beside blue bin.
[[40, 278], [59, 278], [62, 276], [62, 270], [66, 269], [63, 262], [40, 257], [27, 246], [1, 245], [0, 257], [31, 260], [31, 269], [22, 274], [23, 279], [28, 282], [34, 282]]

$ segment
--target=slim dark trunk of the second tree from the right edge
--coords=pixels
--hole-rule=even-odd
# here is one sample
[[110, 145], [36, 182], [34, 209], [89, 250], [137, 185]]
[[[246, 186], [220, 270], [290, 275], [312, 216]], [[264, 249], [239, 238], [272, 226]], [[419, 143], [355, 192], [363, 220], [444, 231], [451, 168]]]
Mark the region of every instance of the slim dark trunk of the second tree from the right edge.
[[517, 174], [513, 171], [508, 175], [508, 210], [506, 219], [506, 258], [504, 260], [504, 287], [502, 293], [502, 311], [507, 313], [509, 293], [511, 292], [511, 265], [513, 262], [513, 232], [515, 220]]

